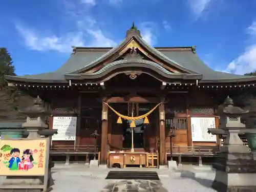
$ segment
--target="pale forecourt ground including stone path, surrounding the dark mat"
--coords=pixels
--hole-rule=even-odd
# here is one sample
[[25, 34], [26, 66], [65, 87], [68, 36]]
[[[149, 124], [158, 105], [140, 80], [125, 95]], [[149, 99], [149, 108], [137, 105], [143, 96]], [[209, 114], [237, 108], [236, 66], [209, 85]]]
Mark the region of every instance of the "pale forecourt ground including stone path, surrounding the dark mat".
[[[113, 169], [90, 169], [83, 164], [56, 165], [52, 169], [54, 185], [51, 192], [216, 192], [210, 187], [215, 173], [207, 168], [201, 171], [184, 166], [184, 169], [181, 168], [178, 172], [156, 168], [144, 169], [157, 172], [160, 178], [157, 181], [106, 180], [109, 170]], [[132, 168], [132, 170], [143, 170], [143, 168]]]

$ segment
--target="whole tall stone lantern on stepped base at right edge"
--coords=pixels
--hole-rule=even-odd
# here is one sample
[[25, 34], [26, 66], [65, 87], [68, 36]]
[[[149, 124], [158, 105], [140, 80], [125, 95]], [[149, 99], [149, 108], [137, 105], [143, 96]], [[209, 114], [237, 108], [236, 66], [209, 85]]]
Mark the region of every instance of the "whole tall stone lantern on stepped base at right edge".
[[219, 192], [256, 191], [256, 161], [239, 137], [239, 134], [256, 133], [256, 129], [245, 129], [240, 118], [248, 111], [233, 106], [231, 98], [226, 98], [224, 106], [219, 129], [208, 129], [213, 135], [226, 135], [216, 163], [212, 165], [216, 169], [212, 188]]

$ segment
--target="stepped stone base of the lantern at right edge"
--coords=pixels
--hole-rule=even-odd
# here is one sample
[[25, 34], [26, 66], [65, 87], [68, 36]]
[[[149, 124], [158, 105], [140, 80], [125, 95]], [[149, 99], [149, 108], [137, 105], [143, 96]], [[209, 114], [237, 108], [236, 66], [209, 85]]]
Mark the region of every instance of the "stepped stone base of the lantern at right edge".
[[249, 153], [220, 153], [212, 188], [218, 192], [255, 192], [256, 161]]

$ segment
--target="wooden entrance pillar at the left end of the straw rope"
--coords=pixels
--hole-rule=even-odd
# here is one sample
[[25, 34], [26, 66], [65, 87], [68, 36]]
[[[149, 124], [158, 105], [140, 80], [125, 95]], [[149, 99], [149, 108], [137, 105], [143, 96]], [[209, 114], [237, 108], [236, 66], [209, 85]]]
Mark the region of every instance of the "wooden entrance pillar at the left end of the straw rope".
[[101, 142], [100, 142], [100, 164], [106, 164], [108, 147], [107, 147], [107, 139], [108, 139], [108, 106], [106, 106], [102, 102], [102, 116], [103, 113], [106, 113], [106, 119], [102, 119], [101, 121]]

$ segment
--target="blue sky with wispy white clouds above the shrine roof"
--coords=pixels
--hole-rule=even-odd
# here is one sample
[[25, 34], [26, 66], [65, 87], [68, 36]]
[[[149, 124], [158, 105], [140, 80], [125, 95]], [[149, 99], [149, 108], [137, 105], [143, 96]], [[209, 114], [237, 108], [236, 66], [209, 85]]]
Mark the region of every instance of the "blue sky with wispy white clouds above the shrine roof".
[[256, 70], [254, 0], [2, 1], [0, 47], [18, 75], [54, 71], [71, 46], [112, 47], [135, 22], [152, 46], [197, 45], [212, 69]]

